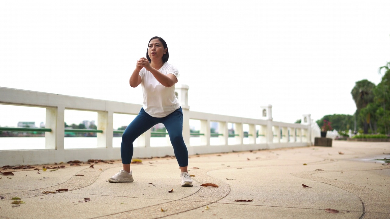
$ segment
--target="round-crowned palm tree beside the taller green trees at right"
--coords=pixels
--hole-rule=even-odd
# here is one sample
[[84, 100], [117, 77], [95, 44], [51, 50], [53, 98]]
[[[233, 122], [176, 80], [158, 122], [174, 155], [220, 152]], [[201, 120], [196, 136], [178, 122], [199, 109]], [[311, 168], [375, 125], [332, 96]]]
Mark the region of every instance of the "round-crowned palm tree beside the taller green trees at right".
[[[360, 109], [365, 108], [370, 102], [374, 102], [374, 88], [375, 84], [367, 79], [356, 81], [355, 87], [353, 87], [351, 90], [351, 95], [353, 100], [355, 101], [356, 108], [358, 111], [360, 111]], [[365, 134], [368, 133], [367, 124], [367, 119], [363, 120], [363, 130]]]

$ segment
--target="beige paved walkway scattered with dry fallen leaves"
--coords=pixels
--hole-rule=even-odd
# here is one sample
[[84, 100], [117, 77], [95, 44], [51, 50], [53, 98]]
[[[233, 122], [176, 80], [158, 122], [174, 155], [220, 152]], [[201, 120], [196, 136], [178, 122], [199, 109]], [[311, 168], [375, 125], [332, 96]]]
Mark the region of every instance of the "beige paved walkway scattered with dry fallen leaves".
[[[384, 157], [390, 158], [388, 142], [346, 141], [197, 155], [190, 157], [193, 187], [179, 185], [176, 159], [169, 157], [132, 164], [132, 183], [106, 182], [120, 162], [64, 164], [39, 174], [11, 170], [14, 176], [0, 176], [0, 218], [390, 218], [390, 165], [372, 161]], [[204, 183], [219, 187], [196, 186]], [[57, 189], [69, 191], [44, 194]], [[25, 203], [11, 204], [13, 197]], [[84, 198], [90, 201], [79, 202]]]

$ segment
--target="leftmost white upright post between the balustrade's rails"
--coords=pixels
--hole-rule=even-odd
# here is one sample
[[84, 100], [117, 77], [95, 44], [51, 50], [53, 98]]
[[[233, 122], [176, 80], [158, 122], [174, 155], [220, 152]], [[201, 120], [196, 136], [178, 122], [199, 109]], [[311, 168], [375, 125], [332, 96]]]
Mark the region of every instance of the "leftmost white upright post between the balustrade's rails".
[[45, 133], [45, 148], [64, 150], [65, 137], [65, 107], [46, 108], [46, 128], [51, 132]]

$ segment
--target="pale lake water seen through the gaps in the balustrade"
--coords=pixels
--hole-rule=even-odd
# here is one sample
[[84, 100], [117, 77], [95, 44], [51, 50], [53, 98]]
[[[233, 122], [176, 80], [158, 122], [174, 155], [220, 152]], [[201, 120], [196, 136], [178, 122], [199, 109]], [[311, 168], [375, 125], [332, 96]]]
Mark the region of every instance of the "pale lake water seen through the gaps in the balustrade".
[[[259, 138], [256, 139], [259, 143]], [[122, 137], [114, 137], [112, 139], [113, 147], [121, 147]], [[235, 143], [234, 138], [228, 138], [228, 144], [233, 145]], [[249, 143], [248, 138], [244, 138], [244, 144]], [[133, 143], [134, 147], [138, 146], [138, 141]], [[165, 137], [153, 137], [151, 138], [151, 147], [170, 146], [170, 142]], [[200, 145], [200, 138], [190, 138], [190, 145]], [[210, 145], [219, 145], [218, 138], [210, 138]], [[66, 137], [64, 138], [64, 148], [94, 148], [97, 146], [96, 137]], [[0, 138], [0, 150], [33, 150], [33, 149], [45, 149], [44, 137], [4, 137]]]

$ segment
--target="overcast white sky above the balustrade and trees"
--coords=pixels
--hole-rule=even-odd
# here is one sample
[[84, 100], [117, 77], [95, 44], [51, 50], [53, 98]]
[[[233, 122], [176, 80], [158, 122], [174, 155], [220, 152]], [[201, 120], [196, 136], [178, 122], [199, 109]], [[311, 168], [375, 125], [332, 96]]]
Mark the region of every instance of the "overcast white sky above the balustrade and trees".
[[[274, 120], [291, 123], [352, 115], [355, 82], [378, 84], [390, 61], [389, 9], [389, 0], [1, 1], [0, 87], [142, 104], [128, 80], [157, 35], [193, 111], [260, 118], [272, 104]], [[1, 126], [45, 118], [0, 111]]]

